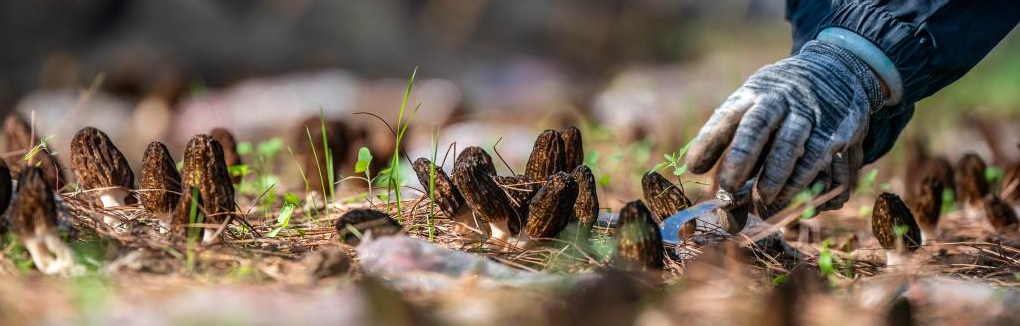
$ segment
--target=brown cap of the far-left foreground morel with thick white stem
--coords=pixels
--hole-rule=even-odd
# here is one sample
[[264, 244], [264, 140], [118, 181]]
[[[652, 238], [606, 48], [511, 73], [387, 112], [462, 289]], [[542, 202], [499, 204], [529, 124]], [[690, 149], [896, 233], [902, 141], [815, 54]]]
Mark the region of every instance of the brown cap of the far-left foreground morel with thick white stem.
[[8, 213], [8, 227], [24, 236], [39, 230], [56, 230], [57, 205], [43, 170], [29, 166], [17, 178], [17, 198]]

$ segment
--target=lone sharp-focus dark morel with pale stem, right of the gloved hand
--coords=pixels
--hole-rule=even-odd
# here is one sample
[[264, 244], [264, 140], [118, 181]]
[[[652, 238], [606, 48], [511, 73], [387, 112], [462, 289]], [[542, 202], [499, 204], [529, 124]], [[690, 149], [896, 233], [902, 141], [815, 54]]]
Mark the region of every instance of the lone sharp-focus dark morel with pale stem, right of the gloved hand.
[[[871, 232], [885, 248], [888, 266], [909, 262], [909, 253], [921, 247], [921, 229], [914, 221], [914, 215], [900, 197], [894, 194], [883, 193], [875, 200], [871, 213]], [[906, 250], [908, 255], [900, 253], [902, 250]]]

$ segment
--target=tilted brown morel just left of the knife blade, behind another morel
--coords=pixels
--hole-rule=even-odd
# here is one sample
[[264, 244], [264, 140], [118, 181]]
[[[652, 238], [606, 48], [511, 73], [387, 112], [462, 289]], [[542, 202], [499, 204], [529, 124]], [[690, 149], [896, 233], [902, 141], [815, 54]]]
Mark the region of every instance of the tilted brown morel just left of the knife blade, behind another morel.
[[[665, 220], [691, 207], [691, 200], [683, 195], [679, 186], [673, 184], [659, 172], [651, 171], [645, 173], [641, 179], [642, 191], [645, 193], [645, 201], [652, 209], [653, 218], [656, 223]], [[691, 220], [679, 230], [679, 238], [687, 238], [695, 234], [698, 227], [697, 220]]]

